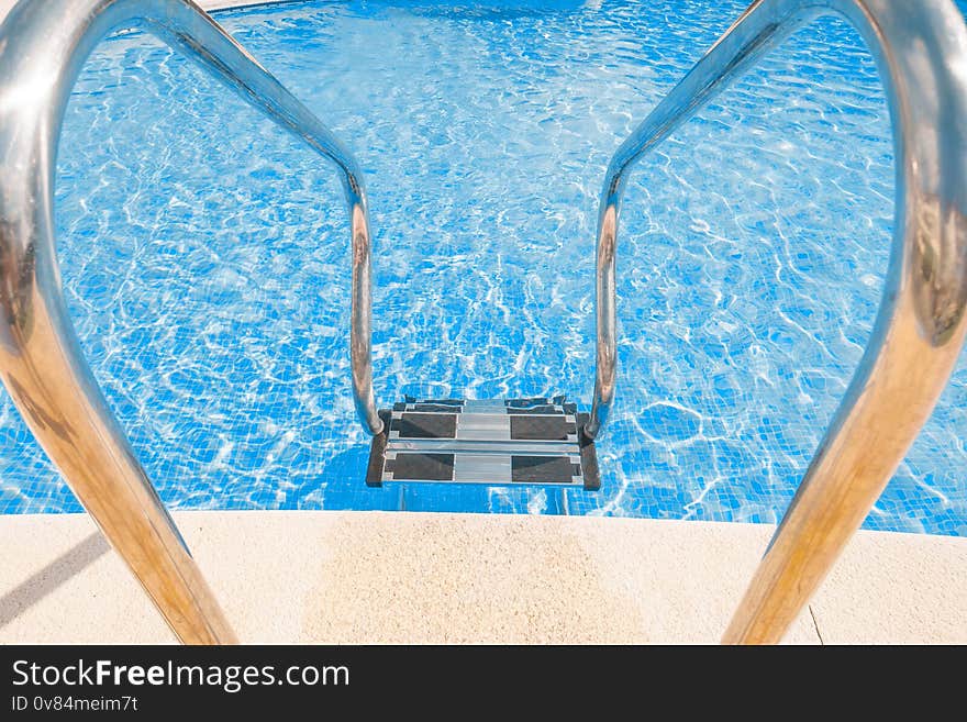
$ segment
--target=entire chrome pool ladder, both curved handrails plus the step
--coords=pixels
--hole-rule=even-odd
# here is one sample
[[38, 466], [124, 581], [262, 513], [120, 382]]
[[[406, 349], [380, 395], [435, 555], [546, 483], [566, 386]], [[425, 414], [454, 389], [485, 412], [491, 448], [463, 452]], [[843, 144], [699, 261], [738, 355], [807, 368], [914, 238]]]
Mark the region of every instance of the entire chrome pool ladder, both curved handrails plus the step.
[[[520, 406], [520, 400], [482, 407], [449, 400], [460, 406], [456, 413], [452, 408], [416, 409], [419, 404], [446, 407], [447, 400], [405, 399], [401, 408], [380, 415], [370, 365], [371, 235], [358, 166], [319, 119], [193, 2], [21, 0], [0, 26], [3, 384], [37, 441], [175, 634], [186, 643], [235, 642], [231, 625], [110, 412], [64, 304], [54, 238], [55, 158], [70, 89], [95, 45], [118, 29], [152, 32], [338, 168], [351, 226], [353, 393], [364, 426], [377, 440], [384, 436], [384, 465], [378, 478], [369, 479], [378, 484], [398, 480], [405, 464], [412, 467], [414, 459], [399, 463], [400, 453], [412, 451], [404, 448], [408, 441], [421, 452], [446, 454], [440, 445], [448, 437], [427, 436], [426, 429], [419, 430], [421, 424], [447, 433], [452, 427], [451, 442], [487, 441], [489, 436], [475, 437], [478, 432], [486, 436], [479, 431], [485, 427], [498, 434], [500, 443], [548, 441], [511, 438], [513, 427], [544, 424], [558, 436], [563, 427], [563, 441], [578, 448], [576, 455], [571, 447], [565, 448], [565, 456], [570, 460], [576, 456], [581, 466], [582, 449], [600, 437], [614, 398], [615, 254], [629, 171], [767, 51], [829, 13], [842, 15], [859, 32], [887, 90], [897, 168], [894, 235], [879, 314], [860, 365], [723, 636], [726, 643], [778, 642], [916, 437], [967, 332], [967, 27], [951, 0], [753, 2], [621, 145], [608, 167], [598, 216], [597, 368], [589, 412], [582, 415], [576, 407], [566, 411], [565, 400], [544, 399], [531, 406], [557, 408], [536, 415], [564, 420], [531, 419], [523, 424], [514, 422], [514, 409], [527, 406]], [[457, 418], [407, 419], [408, 413]], [[477, 419], [463, 415], [475, 413]], [[498, 426], [499, 431], [492, 431]], [[478, 431], [471, 433], [471, 429]], [[460, 430], [465, 431], [463, 440]], [[401, 431], [418, 436], [408, 440]], [[533, 456], [535, 446], [540, 445], [513, 448]], [[474, 464], [464, 464], [466, 476], [460, 478], [475, 474], [490, 478], [502, 465], [512, 481], [514, 462], [508, 462], [507, 451], [501, 452], [502, 460], [487, 462], [489, 470], [481, 470], [481, 464], [487, 464], [481, 459], [476, 470]], [[393, 460], [389, 469], [387, 459]], [[443, 462], [435, 460], [437, 466]], [[457, 468], [456, 462], [451, 466]], [[593, 486], [586, 480], [589, 467], [582, 466], [576, 475], [574, 464], [568, 468], [558, 460], [554, 466], [558, 476], [569, 473], [568, 484]], [[443, 471], [436, 468], [435, 474]]]

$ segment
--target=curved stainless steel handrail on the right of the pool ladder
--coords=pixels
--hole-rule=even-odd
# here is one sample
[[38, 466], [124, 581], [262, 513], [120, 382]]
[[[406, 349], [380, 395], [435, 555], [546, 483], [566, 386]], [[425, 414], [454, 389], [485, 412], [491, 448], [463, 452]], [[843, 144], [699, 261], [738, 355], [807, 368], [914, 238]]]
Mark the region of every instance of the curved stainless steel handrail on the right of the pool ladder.
[[601, 192], [597, 378], [589, 434], [615, 380], [614, 265], [627, 171], [763, 54], [836, 13], [886, 87], [896, 216], [866, 352], [724, 636], [777, 642], [820, 585], [932, 412], [967, 333], [967, 27], [951, 0], [758, 0], [618, 149]]

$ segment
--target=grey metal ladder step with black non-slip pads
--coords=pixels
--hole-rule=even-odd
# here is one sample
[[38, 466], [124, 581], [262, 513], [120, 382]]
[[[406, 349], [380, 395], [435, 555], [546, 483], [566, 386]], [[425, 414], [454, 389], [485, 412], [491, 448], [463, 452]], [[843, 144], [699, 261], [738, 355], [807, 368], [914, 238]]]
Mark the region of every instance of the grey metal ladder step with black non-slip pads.
[[565, 397], [415, 399], [379, 412], [366, 484], [601, 486], [587, 413]]

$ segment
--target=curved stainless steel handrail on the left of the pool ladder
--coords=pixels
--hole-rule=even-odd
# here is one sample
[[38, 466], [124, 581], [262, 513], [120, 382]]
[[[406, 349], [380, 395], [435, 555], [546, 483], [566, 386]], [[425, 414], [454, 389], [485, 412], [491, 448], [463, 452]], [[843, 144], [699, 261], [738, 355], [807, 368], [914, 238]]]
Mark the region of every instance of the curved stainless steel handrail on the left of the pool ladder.
[[227, 643], [235, 636], [105, 403], [62, 295], [53, 179], [64, 109], [91, 49], [121, 27], [149, 31], [338, 166], [352, 226], [353, 390], [379, 433], [366, 192], [332, 133], [189, 0], [21, 0], [0, 25], [0, 377], [178, 637]]

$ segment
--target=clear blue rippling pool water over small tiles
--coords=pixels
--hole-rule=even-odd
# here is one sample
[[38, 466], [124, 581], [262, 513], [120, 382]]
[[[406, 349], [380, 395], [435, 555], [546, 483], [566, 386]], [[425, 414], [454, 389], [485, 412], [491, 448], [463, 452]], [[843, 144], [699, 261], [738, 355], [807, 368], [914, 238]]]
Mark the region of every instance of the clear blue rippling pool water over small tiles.
[[[744, 2], [305, 2], [218, 14], [360, 159], [374, 358], [403, 393], [590, 400], [618, 144]], [[634, 175], [618, 406], [569, 513], [778, 520], [870, 331], [890, 130], [844, 23], [794, 36]], [[102, 44], [57, 180], [70, 312], [176, 509], [563, 513], [544, 491], [365, 487], [333, 169], [145, 35]], [[866, 521], [967, 535], [967, 363]], [[78, 511], [5, 393], [0, 510]]]

